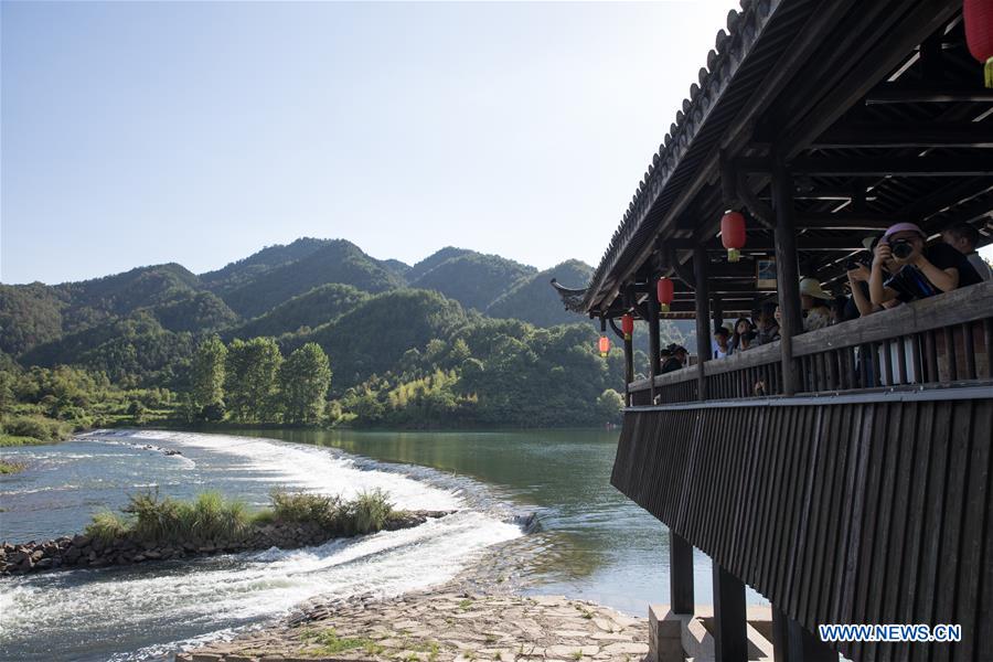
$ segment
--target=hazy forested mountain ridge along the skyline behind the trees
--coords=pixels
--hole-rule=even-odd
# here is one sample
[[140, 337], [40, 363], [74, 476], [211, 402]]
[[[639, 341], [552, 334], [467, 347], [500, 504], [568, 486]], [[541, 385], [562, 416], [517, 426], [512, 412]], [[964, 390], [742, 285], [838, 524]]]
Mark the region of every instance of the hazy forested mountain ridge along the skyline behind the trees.
[[[540, 327], [583, 323], [584, 318], [563, 309], [548, 281], [555, 277], [581, 286], [591, 270], [567, 260], [538, 271], [499, 255], [452, 246], [410, 266], [373, 258], [345, 239], [302, 237], [200, 275], [169, 263], [55, 286], [0, 284], [0, 351], [25, 365], [130, 366], [114, 370], [120, 374], [154, 372], [170, 361], [185, 360], [207, 333], [226, 340], [312, 337], [346, 352], [349, 343], [337, 335], [366, 314], [385, 314], [364, 313], [364, 307], [386, 311], [396, 306], [399, 323], [410, 314], [412, 301], [439, 307], [449, 320], [465, 319], [459, 311], [474, 309]], [[410, 296], [375, 298], [399, 290]], [[449, 310], [449, 302], [458, 311]], [[428, 320], [439, 318], [424, 319], [424, 333], [435, 332]], [[395, 335], [397, 342], [405, 339]], [[357, 374], [384, 363], [381, 356], [349, 356], [345, 365]]]

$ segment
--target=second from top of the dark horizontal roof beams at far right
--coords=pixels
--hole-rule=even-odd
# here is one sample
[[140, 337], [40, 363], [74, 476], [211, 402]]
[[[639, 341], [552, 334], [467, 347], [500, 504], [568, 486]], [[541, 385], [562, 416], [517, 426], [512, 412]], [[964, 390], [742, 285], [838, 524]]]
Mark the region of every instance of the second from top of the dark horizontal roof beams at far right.
[[[993, 95], [991, 95], [993, 96]], [[885, 124], [829, 129], [812, 148], [993, 147], [990, 122]]]

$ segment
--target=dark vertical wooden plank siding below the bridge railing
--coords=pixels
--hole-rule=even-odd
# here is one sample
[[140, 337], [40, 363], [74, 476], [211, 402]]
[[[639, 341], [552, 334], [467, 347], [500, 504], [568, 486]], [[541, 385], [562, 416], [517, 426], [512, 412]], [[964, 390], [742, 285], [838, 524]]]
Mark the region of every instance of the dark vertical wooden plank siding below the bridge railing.
[[962, 626], [853, 660], [987, 661], [991, 429], [989, 386], [632, 407], [611, 483], [811, 631]]

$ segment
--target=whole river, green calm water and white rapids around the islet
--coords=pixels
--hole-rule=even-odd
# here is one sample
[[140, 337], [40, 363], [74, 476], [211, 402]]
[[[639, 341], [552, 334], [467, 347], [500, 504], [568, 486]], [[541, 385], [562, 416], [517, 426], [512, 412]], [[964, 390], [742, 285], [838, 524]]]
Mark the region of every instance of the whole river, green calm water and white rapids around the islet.
[[[349, 496], [382, 488], [398, 508], [458, 510], [425, 525], [319, 547], [0, 579], [0, 660], [157, 660], [229, 636], [314, 596], [398, 595], [441, 584], [500, 546], [498, 581], [643, 616], [665, 601], [662, 525], [609, 485], [617, 433], [103, 431], [4, 449], [0, 538], [72, 534], [100, 508], [158, 488], [217, 490], [253, 505], [274, 487]], [[182, 455], [166, 455], [174, 449]], [[535, 513], [536, 533], [515, 515]], [[709, 599], [709, 565], [697, 596]]]

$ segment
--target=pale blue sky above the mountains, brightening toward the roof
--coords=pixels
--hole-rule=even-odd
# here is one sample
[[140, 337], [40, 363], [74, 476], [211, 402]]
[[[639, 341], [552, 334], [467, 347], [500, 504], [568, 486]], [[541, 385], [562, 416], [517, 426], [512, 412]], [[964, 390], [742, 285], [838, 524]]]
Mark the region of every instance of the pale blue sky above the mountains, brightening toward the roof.
[[732, 3], [2, 3], [0, 279], [597, 264]]

